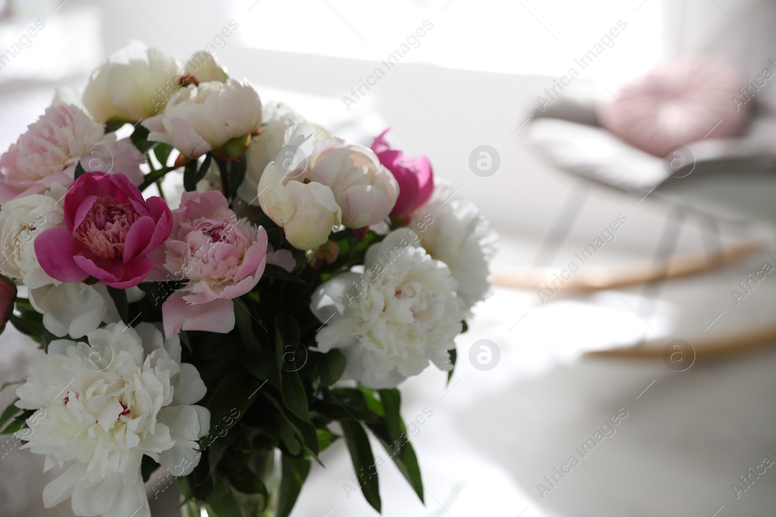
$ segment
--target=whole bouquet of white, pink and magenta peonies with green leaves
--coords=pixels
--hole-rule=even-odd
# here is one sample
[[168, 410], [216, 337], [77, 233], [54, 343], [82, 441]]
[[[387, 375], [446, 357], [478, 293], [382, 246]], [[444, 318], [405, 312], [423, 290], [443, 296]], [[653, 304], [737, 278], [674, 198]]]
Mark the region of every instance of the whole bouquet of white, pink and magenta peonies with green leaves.
[[64, 468], [44, 505], [285, 517], [343, 438], [379, 511], [368, 433], [422, 500], [396, 387], [452, 374], [495, 235], [384, 136], [140, 43], [57, 92], [0, 157], [0, 330], [43, 349], [0, 429]]

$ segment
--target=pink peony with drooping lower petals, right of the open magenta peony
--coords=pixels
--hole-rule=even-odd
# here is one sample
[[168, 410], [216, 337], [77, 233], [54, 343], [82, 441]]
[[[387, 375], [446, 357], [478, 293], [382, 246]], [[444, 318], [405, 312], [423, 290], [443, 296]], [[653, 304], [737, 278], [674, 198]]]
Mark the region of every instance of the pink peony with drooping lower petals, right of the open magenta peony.
[[237, 218], [220, 191], [184, 192], [172, 217], [172, 236], [154, 252], [149, 278], [188, 282], [161, 307], [165, 335], [227, 333], [234, 328], [232, 298], [251, 291], [264, 273], [267, 233]]

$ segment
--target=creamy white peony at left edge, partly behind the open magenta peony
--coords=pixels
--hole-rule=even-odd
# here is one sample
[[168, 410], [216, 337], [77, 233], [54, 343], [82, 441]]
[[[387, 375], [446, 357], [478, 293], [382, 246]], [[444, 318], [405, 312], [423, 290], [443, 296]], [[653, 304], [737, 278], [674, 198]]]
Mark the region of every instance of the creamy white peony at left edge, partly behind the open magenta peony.
[[45, 229], [64, 226], [61, 200], [67, 188], [52, 184], [45, 194], [12, 199], [0, 210], [0, 272], [31, 289], [58, 284], [48, 276], [35, 254], [35, 237]]

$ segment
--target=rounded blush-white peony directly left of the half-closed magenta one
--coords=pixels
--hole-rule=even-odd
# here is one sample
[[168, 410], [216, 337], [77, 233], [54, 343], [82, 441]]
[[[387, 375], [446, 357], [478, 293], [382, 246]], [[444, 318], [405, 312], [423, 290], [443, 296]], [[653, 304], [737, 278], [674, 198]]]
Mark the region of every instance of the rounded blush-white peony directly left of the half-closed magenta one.
[[390, 214], [399, 197], [399, 184], [376, 154], [358, 143], [332, 138], [315, 146], [307, 179], [327, 185], [342, 209], [348, 228], [376, 224]]

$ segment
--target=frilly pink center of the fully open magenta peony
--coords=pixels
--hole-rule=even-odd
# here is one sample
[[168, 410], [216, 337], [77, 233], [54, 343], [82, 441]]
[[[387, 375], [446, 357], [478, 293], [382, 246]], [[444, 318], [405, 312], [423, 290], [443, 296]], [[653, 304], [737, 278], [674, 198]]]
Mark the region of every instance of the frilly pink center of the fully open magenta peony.
[[137, 219], [140, 214], [131, 203], [102, 195], [75, 230], [74, 237], [97, 257], [115, 260], [123, 257], [126, 234]]

